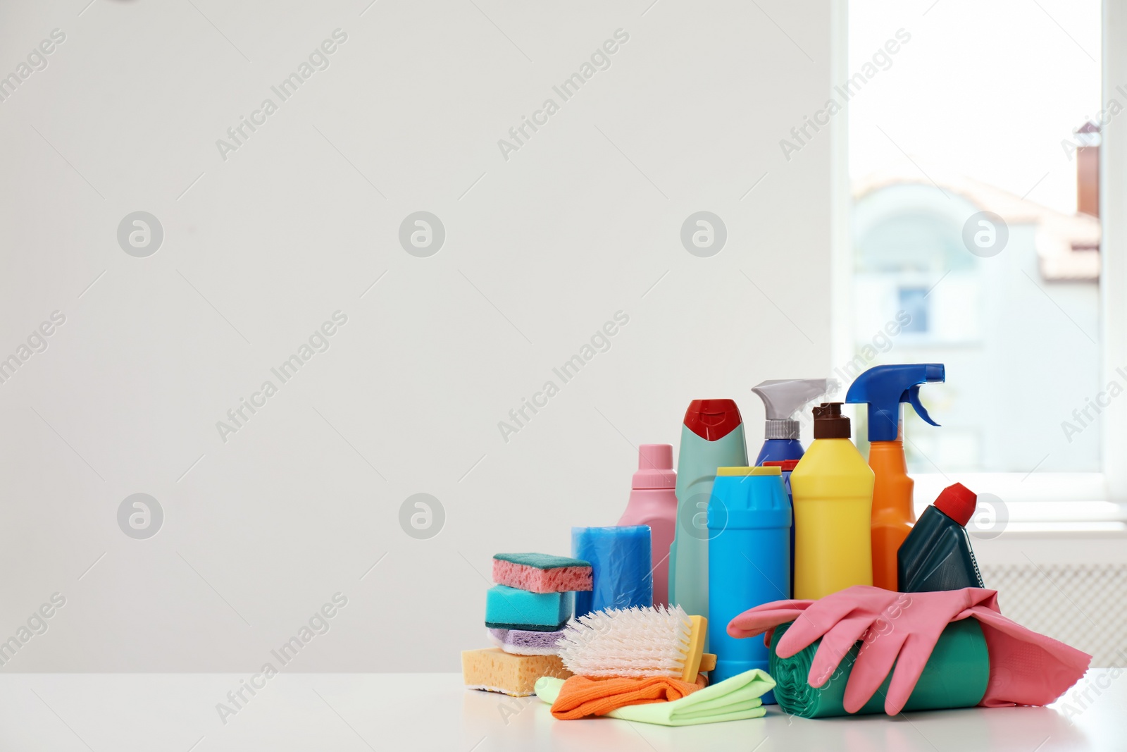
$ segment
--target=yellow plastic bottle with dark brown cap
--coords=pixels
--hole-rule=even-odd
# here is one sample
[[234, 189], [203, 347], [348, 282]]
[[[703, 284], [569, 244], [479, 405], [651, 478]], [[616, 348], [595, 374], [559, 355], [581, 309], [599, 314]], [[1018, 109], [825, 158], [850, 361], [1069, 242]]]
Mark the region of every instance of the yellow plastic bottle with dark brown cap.
[[872, 484], [841, 402], [814, 408], [814, 442], [790, 475], [795, 598], [872, 584]]

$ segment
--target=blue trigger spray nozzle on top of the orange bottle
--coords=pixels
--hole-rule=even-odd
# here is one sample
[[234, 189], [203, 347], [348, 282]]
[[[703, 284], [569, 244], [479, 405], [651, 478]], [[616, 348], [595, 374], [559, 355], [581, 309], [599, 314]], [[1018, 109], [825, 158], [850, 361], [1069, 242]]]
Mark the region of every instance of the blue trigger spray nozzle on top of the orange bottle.
[[900, 402], [907, 402], [926, 423], [938, 426], [920, 401], [920, 387], [947, 379], [942, 363], [876, 365], [857, 378], [846, 402], [868, 402], [869, 441], [896, 441], [900, 433]]

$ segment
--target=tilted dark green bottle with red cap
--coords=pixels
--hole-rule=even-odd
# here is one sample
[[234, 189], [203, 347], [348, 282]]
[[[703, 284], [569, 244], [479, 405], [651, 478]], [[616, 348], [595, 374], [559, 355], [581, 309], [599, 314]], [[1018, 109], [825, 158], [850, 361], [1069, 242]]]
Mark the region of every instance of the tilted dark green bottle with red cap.
[[924, 510], [896, 552], [899, 592], [985, 587], [967, 534], [977, 499], [973, 490], [957, 483]]

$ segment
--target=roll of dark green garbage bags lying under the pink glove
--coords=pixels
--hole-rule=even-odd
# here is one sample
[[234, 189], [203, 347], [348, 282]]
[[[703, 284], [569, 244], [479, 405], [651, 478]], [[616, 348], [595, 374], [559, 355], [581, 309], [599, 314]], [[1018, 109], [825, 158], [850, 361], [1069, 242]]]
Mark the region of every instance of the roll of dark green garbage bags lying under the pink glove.
[[[787, 634], [793, 622], [780, 625], [771, 638], [770, 671], [775, 680], [774, 696], [779, 707], [790, 715], [801, 718], [832, 718], [846, 716], [844, 698], [845, 684], [853, 662], [857, 661], [861, 643], [850, 648], [841, 665], [829, 680], [815, 689], [807, 683], [810, 664], [822, 640], [799, 651], [789, 658], [780, 658], [775, 645]], [[894, 627], [895, 628], [895, 627]], [[879, 637], [877, 639], [880, 639]], [[895, 665], [894, 665], [895, 671]], [[885, 711], [885, 696], [891, 672], [884, 683], [855, 715]], [[982, 701], [990, 680], [990, 654], [986, 638], [977, 619], [952, 621], [943, 629], [924, 666], [920, 681], [912, 691], [904, 710], [942, 710], [947, 708], [969, 708]]]

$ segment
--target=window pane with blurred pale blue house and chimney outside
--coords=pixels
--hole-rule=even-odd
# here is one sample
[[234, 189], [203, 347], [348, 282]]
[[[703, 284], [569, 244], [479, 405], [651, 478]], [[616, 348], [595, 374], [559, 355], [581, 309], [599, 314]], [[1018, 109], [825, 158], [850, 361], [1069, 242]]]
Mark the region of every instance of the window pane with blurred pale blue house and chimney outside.
[[848, 336], [947, 365], [909, 471], [1101, 471], [1100, 3], [855, 0], [848, 48]]

